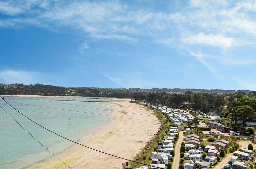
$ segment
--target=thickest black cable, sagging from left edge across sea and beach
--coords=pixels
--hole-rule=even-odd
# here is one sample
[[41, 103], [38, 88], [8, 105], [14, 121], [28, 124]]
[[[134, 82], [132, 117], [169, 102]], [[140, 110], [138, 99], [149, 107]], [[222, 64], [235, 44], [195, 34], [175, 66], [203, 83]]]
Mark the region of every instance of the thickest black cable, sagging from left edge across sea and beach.
[[[3, 99], [3, 98], [1, 97], [1, 99]], [[4, 100], [4, 99], [3, 99], [3, 100]], [[36, 122], [35, 122], [34, 120], [32, 120], [31, 118], [27, 117], [26, 115], [24, 115], [23, 113], [21, 113], [20, 111], [18, 111], [17, 109], [15, 109], [15, 108], [14, 108], [12, 105], [10, 105], [6, 100], [4, 100], [4, 101], [5, 101], [9, 106], [11, 106], [14, 110], [16, 110], [17, 112], [19, 112], [19, 113], [20, 113], [21, 115], [23, 115], [24, 117], [28, 118], [28, 119], [29, 119], [30, 121], [32, 121], [33, 123], [35, 123], [35, 124], [37, 124], [38, 126], [44, 128], [45, 130], [50, 131], [51, 133], [53, 133], [53, 134], [55, 134], [55, 135], [58, 135], [58, 136], [60, 136], [60, 137], [62, 137], [62, 138], [65, 138], [65, 139], [69, 140], [70, 142], [73, 142], [73, 143], [78, 144], [78, 145], [80, 145], [80, 146], [83, 146], [83, 147], [92, 149], [92, 150], [94, 150], [94, 151], [98, 151], [98, 152], [100, 152], [100, 153], [104, 153], [104, 154], [107, 154], [107, 155], [111, 155], [111, 156], [113, 156], [113, 157], [117, 157], [117, 158], [124, 159], [124, 160], [130, 161], [130, 162], [133, 162], [133, 163], [138, 163], [138, 164], [142, 164], [142, 165], [146, 165], [146, 166], [151, 166], [151, 165], [148, 165], [148, 164], [136, 162], [136, 161], [133, 161], [133, 160], [130, 160], [130, 159], [126, 159], [126, 158], [123, 158], [123, 157], [119, 157], [119, 156], [116, 156], [116, 155], [113, 155], [113, 154], [109, 154], [109, 153], [106, 153], [106, 152], [103, 152], [103, 151], [100, 151], [100, 150], [96, 150], [96, 149], [94, 149], [94, 148], [91, 148], [91, 147], [85, 146], [85, 145], [83, 145], [83, 144], [77, 143], [77, 142], [75, 142], [75, 141], [73, 141], [73, 140], [71, 140], [71, 139], [69, 139], [69, 138], [66, 138], [66, 137], [64, 137], [64, 136], [62, 136], [62, 135], [59, 135], [59, 134], [57, 134], [57, 133], [55, 133], [55, 132], [53, 132], [53, 131], [51, 131], [51, 130], [45, 128], [45, 127], [43, 127], [42, 125], [36, 123]], [[165, 169], [165, 168], [160, 168], [160, 167], [158, 167], [158, 168], [159, 168], [159, 169]]]

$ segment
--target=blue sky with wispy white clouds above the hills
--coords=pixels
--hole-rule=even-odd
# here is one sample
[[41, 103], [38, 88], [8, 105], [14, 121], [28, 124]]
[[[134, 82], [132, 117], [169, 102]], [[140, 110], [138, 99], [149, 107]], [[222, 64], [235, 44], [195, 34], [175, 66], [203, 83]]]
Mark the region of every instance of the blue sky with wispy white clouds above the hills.
[[0, 82], [256, 90], [256, 1], [0, 0]]

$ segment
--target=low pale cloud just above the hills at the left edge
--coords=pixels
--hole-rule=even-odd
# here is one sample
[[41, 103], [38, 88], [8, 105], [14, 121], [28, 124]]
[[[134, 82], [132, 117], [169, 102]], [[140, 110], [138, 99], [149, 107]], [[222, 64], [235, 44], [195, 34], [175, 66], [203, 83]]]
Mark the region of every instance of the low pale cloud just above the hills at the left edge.
[[3, 83], [24, 83], [34, 84], [40, 81], [40, 77], [43, 73], [28, 72], [28, 71], [16, 71], [16, 70], [3, 70], [0, 71], [0, 79]]

